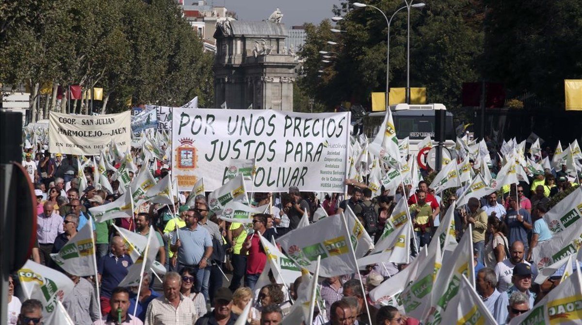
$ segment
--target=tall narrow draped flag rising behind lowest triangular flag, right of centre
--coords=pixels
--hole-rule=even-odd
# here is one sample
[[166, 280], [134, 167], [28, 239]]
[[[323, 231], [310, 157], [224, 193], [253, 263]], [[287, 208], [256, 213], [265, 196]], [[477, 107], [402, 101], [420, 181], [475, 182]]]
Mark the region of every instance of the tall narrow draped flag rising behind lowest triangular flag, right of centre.
[[[445, 261], [445, 260], [443, 260]], [[463, 281], [463, 275], [469, 278], [471, 283], [475, 282], [473, 265], [473, 238], [471, 228], [464, 232], [463, 237], [456, 246], [455, 251], [443, 263], [441, 271], [437, 275], [431, 291], [431, 309], [423, 324], [441, 324], [441, 317], [446, 312], [449, 302], [459, 292], [459, 287]], [[450, 306], [455, 308], [456, 306]]]

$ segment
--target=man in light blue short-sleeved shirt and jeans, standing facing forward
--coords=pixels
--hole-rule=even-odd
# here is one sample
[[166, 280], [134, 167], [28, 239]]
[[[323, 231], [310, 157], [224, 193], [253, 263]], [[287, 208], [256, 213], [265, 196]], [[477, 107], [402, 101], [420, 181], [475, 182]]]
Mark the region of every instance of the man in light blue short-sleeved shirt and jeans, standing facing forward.
[[202, 292], [208, 301], [208, 286], [203, 286], [204, 277], [210, 276], [208, 259], [212, 255], [212, 238], [210, 232], [201, 225], [200, 212], [190, 209], [186, 213], [186, 227], [178, 229], [178, 236], [172, 238], [172, 252], [178, 253], [178, 271], [184, 266], [190, 266], [196, 271], [196, 290]]

